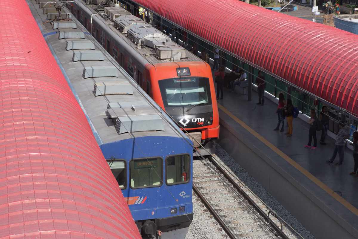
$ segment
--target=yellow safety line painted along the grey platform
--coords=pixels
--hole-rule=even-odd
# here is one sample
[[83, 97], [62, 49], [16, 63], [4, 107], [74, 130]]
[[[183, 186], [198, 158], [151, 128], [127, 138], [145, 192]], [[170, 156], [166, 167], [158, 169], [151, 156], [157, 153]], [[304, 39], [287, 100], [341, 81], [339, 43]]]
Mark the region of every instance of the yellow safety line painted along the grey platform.
[[306, 177], [308, 177], [311, 181], [313, 181], [316, 185], [318, 185], [320, 188], [322, 188], [324, 191], [326, 191], [329, 195], [331, 195], [335, 200], [340, 202], [343, 206], [347, 207], [347, 209], [351, 212], [353, 212], [355, 215], [358, 215], [358, 209], [355, 208], [352, 204], [350, 204], [347, 200], [345, 200], [343, 197], [339, 196], [337, 193], [335, 193], [330, 187], [325, 185], [323, 182], [321, 182], [318, 178], [313, 176], [310, 172], [308, 172], [304, 167], [302, 167], [300, 164], [296, 163], [292, 158], [287, 156], [284, 152], [282, 152], [280, 149], [276, 148], [275, 145], [269, 142], [269, 140], [263, 138], [259, 133], [257, 133], [255, 130], [250, 128], [246, 123], [244, 123], [242, 120], [237, 118], [235, 115], [233, 115], [228, 109], [226, 109], [224, 106], [220, 105], [218, 103], [219, 109], [224, 111], [228, 116], [230, 116], [233, 120], [235, 120], [238, 124], [240, 124], [243, 128], [245, 128], [248, 132], [250, 132], [252, 135], [254, 135], [257, 139], [259, 139], [262, 143], [266, 144], [269, 148], [274, 150], [279, 156], [284, 158], [288, 163], [290, 163], [293, 167], [295, 167], [297, 170], [299, 170], [301, 173], [303, 173]]

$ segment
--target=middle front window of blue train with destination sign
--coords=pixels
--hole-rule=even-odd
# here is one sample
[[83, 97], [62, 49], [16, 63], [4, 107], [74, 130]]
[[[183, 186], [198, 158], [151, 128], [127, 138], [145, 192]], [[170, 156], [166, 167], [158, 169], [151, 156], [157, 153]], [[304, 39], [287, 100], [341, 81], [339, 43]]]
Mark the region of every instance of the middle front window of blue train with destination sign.
[[130, 163], [131, 188], [159, 187], [162, 182], [161, 158], [134, 159]]

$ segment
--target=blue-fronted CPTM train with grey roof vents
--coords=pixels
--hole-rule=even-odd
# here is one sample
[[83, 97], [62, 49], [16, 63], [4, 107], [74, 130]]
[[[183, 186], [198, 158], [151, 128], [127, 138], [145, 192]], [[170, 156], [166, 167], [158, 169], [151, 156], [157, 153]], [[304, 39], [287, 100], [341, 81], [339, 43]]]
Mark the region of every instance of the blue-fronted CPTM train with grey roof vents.
[[[47, 0], [36, 1], [43, 6]], [[184, 238], [193, 219], [192, 141], [76, 19], [61, 19], [71, 15], [66, 8], [61, 16], [53, 14], [56, 5], [29, 4], [38, 23], [44, 22], [44, 37], [139, 231], [144, 237]]]

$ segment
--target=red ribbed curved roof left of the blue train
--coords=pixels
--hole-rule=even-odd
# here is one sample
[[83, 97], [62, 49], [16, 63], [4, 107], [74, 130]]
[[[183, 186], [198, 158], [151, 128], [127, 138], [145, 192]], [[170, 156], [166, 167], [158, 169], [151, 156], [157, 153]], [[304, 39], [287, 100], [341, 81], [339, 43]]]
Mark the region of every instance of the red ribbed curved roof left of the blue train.
[[25, 0], [0, 1], [0, 238], [140, 238]]

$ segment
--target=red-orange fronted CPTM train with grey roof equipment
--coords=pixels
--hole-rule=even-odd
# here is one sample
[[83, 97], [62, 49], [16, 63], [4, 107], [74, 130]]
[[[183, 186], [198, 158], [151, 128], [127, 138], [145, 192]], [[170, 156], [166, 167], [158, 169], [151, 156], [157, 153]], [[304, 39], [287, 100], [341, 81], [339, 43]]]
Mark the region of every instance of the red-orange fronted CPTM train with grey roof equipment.
[[160, 30], [121, 7], [76, 0], [72, 13], [197, 143], [214, 152], [219, 113], [209, 64], [173, 42]]

